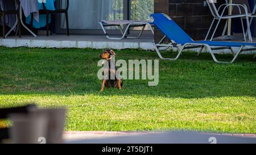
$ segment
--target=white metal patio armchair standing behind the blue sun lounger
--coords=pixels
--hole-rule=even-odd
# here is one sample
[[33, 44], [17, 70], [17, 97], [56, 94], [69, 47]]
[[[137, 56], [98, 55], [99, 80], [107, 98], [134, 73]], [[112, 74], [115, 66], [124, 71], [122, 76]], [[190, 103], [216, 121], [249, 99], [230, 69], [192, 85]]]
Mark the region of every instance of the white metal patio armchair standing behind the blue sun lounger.
[[[217, 9], [215, 4], [213, 2], [210, 2], [210, 1], [211, 0], [207, 0], [207, 3], [208, 3], [208, 6], [209, 6], [209, 9], [210, 9], [210, 12], [213, 15], [213, 21], [212, 21], [212, 24], [210, 25], [210, 28], [209, 28], [209, 31], [207, 33], [207, 36], [205, 37], [205, 40], [208, 39], [210, 30], [212, 30], [212, 27], [213, 27], [213, 24], [214, 24], [215, 20], [218, 20], [218, 22], [217, 22], [216, 27], [214, 28], [214, 31], [212, 33], [212, 37], [210, 37], [210, 41], [212, 41], [212, 39], [213, 39], [213, 37], [216, 33], [216, 30], [218, 28], [218, 25], [220, 24], [221, 19], [227, 19], [228, 20], [228, 19], [232, 19], [232, 18], [240, 18], [241, 19], [241, 24], [242, 24], [242, 30], [243, 30], [243, 37], [244, 37], [244, 40], [246, 41], [245, 28], [243, 26], [243, 20], [242, 20], [243, 18], [245, 18], [246, 23], [247, 23], [247, 27], [248, 27], [248, 30], [249, 30], [248, 31], [249, 40], [253, 41], [253, 39], [251, 37], [251, 32], [250, 32], [249, 14], [248, 14], [248, 11], [247, 11], [247, 7], [245, 5], [234, 4], [234, 3], [233, 4], [225, 3], [225, 4], [221, 5], [220, 7], [218, 7], [218, 9]], [[230, 6], [233, 6], [233, 8], [236, 7], [238, 11], [236, 12], [236, 14], [224, 15], [225, 11], [227, 11]], [[221, 11], [221, 9], [222, 9], [222, 11]], [[219, 13], [219, 11], [221, 11], [221, 13]], [[225, 34], [226, 27], [227, 27], [227, 24], [224, 28], [222, 36], [224, 36], [224, 34]]]

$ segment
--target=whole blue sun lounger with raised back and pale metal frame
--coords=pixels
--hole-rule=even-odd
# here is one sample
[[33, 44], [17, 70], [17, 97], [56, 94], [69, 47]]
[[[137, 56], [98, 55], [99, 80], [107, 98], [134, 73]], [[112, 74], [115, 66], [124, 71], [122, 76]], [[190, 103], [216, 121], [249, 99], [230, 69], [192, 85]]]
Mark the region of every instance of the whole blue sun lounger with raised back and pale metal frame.
[[[151, 14], [150, 15], [154, 19], [154, 26], [156, 26], [163, 34], [164, 37], [159, 41], [159, 43], [155, 44], [155, 50], [158, 53], [158, 56], [163, 60], [177, 60], [177, 58], [180, 57], [181, 52], [183, 52], [184, 49], [194, 49], [194, 48], [200, 48], [198, 55], [203, 51], [203, 49], [206, 47], [210, 55], [212, 55], [212, 58], [215, 62], [218, 63], [233, 63], [237, 56], [241, 52], [245, 51], [254, 51], [256, 50], [256, 43], [245, 43], [245, 42], [229, 42], [229, 41], [194, 41], [190, 36], [187, 35], [175, 22], [172, 20], [169, 16], [166, 14]], [[163, 44], [164, 38], [169, 39], [171, 41], [170, 44]], [[164, 58], [162, 57], [160, 53], [160, 48], [163, 48], [164, 50], [176, 47], [179, 51], [177, 56], [175, 58]], [[239, 47], [239, 51], [237, 53], [234, 52], [233, 47]], [[250, 48], [245, 48], [250, 47]], [[230, 62], [224, 62], [224, 61], [218, 61], [216, 57], [214, 56], [213, 51], [214, 50], [220, 50], [220, 49], [229, 49], [232, 54], [234, 55], [234, 58]]]

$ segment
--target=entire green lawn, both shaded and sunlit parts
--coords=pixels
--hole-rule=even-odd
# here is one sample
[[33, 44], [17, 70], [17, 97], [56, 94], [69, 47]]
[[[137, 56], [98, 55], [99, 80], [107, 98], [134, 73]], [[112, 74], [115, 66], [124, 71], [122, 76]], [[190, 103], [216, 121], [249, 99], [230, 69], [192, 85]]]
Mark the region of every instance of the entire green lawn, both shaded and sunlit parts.
[[[100, 93], [101, 50], [0, 47], [0, 107], [37, 103], [68, 107], [67, 131], [256, 133], [253, 55], [216, 64], [208, 53], [159, 61], [159, 85], [126, 80]], [[115, 51], [117, 59], [156, 59], [149, 51]], [[166, 52], [164, 55], [173, 55]], [[231, 55], [221, 55], [231, 58]]]

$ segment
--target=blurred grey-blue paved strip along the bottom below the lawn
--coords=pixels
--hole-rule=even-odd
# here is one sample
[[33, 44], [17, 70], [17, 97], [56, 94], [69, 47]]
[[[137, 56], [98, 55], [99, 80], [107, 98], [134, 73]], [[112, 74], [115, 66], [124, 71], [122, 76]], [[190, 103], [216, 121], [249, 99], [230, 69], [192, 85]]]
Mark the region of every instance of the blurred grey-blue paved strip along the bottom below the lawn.
[[67, 131], [64, 132], [65, 143], [207, 143], [210, 137], [219, 143], [254, 143], [255, 134], [230, 134], [230, 133], [198, 133], [198, 132], [108, 132], [108, 131]]

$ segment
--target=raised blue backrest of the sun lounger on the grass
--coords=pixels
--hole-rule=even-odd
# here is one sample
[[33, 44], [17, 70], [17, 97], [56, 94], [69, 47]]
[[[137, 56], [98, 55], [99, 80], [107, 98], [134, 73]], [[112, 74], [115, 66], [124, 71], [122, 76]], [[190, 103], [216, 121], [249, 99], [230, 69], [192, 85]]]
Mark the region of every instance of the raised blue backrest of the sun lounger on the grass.
[[166, 14], [151, 14], [156, 26], [166, 37], [177, 44], [193, 43], [193, 39]]

